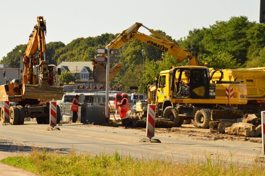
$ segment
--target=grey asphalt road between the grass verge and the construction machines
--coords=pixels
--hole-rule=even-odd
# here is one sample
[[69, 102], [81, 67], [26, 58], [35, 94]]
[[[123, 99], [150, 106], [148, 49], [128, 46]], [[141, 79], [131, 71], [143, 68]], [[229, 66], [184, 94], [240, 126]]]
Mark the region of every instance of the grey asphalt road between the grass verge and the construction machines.
[[[0, 151], [30, 152], [31, 147], [46, 147], [58, 151], [75, 150], [91, 155], [113, 154], [144, 159], [174, 161], [227, 160], [243, 164], [253, 163], [262, 155], [262, 144], [243, 140], [209, 140], [204, 135], [157, 132], [152, 139], [161, 143], [140, 142], [146, 138], [143, 129], [107, 127], [81, 123], [63, 123], [60, 130], [46, 130], [49, 125], [25, 122], [24, 125], [0, 125]], [[204, 129], [208, 130], [208, 129]]]

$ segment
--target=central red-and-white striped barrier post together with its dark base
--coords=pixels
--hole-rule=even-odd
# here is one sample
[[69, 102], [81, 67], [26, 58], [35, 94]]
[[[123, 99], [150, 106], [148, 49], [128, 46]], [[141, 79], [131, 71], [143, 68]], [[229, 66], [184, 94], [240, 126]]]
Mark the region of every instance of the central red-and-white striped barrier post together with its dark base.
[[149, 139], [141, 139], [140, 142], [157, 142], [161, 143], [159, 139], [151, 139], [155, 136], [155, 122], [156, 122], [156, 105], [149, 104], [147, 106], [147, 122], [146, 122], [146, 137]]

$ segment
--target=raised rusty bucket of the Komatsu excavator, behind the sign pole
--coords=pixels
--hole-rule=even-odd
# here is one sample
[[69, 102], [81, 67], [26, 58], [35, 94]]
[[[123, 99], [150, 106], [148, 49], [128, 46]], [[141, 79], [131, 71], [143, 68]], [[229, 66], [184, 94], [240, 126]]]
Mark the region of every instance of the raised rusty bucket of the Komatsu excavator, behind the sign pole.
[[[116, 64], [109, 69], [109, 81], [114, 79], [117, 73], [121, 70], [122, 64]], [[95, 79], [98, 82], [106, 82], [106, 69], [103, 65], [98, 65], [95, 71]]]

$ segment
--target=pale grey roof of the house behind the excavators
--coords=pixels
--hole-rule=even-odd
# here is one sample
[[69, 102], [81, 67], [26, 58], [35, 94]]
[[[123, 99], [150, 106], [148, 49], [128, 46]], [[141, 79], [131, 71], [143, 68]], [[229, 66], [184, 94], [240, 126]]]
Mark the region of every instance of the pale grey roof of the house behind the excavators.
[[[67, 66], [69, 71], [72, 73], [80, 73], [82, 68], [89, 67], [90, 70], [93, 70], [92, 61], [88, 62], [61, 62], [59, 65], [57, 65], [57, 68], [61, 68], [62, 66]], [[66, 68], [66, 67], [63, 67]], [[87, 69], [87, 68], [86, 68]], [[87, 69], [89, 70], [89, 69]]]

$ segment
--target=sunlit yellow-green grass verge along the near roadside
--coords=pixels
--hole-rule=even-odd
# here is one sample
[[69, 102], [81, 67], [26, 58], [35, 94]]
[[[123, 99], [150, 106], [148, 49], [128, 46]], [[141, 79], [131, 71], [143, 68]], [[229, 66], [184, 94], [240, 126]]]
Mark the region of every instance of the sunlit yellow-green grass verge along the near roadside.
[[2, 159], [2, 163], [16, 166], [40, 175], [209, 175], [209, 176], [264, 176], [263, 163], [239, 166], [235, 163], [227, 165], [220, 160], [220, 155], [215, 160], [211, 155], [206, 156], [206, 161], [178, 163], [169, 160], [144, 160], [133, 159], [130, 156], [121, 156], [118, 151], [108, 155], [100, 153], [59, 154], [43, 150], [32, 150], [28, 156], [13, 156]]

